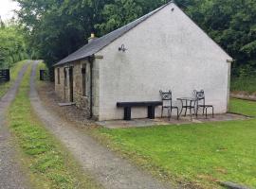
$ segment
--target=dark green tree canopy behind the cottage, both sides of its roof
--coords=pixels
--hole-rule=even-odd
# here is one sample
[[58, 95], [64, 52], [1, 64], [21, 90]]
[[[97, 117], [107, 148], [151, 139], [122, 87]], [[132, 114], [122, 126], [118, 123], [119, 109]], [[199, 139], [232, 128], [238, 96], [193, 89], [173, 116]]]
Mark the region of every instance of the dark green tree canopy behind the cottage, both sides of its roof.
[[[15, 0], [30, 46], [52, 64], [84, 43], [167, 3], [167, 0]], [[256, 68], [255, 0], [176, 0], [233, 57], [233, 74]]]

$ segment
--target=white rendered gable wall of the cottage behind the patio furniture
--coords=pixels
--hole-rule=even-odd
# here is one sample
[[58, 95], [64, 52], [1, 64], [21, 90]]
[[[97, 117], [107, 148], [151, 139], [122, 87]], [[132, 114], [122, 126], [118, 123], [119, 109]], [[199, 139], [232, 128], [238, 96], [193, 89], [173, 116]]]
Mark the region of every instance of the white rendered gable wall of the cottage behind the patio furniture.
[[[174, 11], [171, 9], [174, 8]], [[124, 44], [125, 53], [118, 48]], [[122, 119], [119, 101], [160, 100], [159, 90], [173, 91], [175, 99], [205, 90], [216, 113], [227, 112], [229, 63], [216, 43], [174, 4], [155, 13], [97, 55], [100, 66], [99, 119]], [[156, 116], [160, 109], [156, 110]], [[132, 109], [133, 118], [147, 116], [146, 108]]]

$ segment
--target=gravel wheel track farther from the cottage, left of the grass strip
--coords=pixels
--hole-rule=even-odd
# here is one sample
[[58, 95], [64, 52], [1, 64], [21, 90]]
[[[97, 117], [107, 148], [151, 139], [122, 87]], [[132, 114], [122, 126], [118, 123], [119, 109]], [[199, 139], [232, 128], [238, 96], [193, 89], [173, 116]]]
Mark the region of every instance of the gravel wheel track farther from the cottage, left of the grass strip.
[[27, 187], [26, 174], [21, 170], [15, 159], [16, 153], [11, 142], [9, 129], [6, 124], [6, 111], [15, 98], [21, 80], [27, 70], [26, 63], [19, 73], [9, 92], [0, 99], [0, 188], [23, 189]]

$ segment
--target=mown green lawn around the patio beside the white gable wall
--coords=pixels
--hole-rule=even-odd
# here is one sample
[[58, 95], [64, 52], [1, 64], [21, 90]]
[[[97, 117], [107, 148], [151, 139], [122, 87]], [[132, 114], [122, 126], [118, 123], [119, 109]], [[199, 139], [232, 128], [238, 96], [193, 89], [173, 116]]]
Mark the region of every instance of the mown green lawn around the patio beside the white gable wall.
[[[256, 116], [256, 102], [232, 99], [230, 112]], [[124, 157], [165, 180], [216, 188], [217, 181], [256, 187], [256, 119], [138, 129], [97, 129]]]

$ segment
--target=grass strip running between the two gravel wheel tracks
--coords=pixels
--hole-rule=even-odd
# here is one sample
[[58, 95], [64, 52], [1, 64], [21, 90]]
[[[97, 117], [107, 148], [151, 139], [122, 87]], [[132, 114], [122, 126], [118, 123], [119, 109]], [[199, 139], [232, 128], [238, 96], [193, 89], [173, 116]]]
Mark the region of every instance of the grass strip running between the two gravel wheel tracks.
[[88, 188], [100, 186], [39, 121], [27, 97], [31, 66], [9, 107], [9, 127], [20, 147], [21, 159], [35, 188]]

